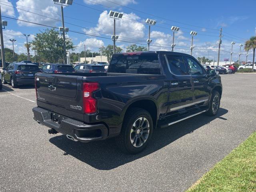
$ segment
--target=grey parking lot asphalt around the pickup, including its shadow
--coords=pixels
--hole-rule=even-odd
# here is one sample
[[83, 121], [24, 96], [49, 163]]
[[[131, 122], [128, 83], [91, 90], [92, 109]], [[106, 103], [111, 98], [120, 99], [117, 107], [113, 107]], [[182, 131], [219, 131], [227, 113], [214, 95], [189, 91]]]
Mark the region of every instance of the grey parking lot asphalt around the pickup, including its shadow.
[[256, 131], [256, 75], [221, 75], [218, 115], [154, 130], [137, 155], [81, 143], [33, 120], [32, 86], [0, 91], [0, 191], [182, 192]]

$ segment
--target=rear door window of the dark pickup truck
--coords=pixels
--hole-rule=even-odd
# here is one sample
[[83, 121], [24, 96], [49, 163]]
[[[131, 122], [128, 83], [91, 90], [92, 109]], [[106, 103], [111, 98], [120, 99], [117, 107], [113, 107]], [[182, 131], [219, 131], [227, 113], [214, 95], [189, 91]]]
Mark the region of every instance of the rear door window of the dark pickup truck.
[[166, 58], [172, 74], [187, 75], [186, 67], [185, 67], [182, 56], [166, 55]]

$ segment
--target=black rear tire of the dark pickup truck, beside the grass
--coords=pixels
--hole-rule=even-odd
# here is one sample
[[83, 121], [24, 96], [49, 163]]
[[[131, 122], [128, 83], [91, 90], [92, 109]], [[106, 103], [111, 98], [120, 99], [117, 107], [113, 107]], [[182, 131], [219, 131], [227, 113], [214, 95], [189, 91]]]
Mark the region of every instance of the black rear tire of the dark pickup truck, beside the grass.
[[[149, 127], [143, 128], [143, 130], [140, 128], [138, 128], [138, 129], [140, 129], [140, 131], [142, 131], [142, 132], [145, 132], [144, 130], [147, 129], [146, 131], [148, 131], [148, 133], [140, 134], [140, 133], [136, 132], [136, 130], [138, 131], [138, 129], [136, 128], [137, 126], [134, 127], [133, 125], [136, 124], [136, 122], [140, 118], [142, 118], [142, 120], [144, 120], [144, 123], [148, 124]], [[144, 125], [144, 123], [142, 123], [142, 126]], [[132, 129], [134, 131], [132, 131]], [[125, 153], [137, 154], [146, 148], [146, 146], [150, 142], [152, 133], [153, 133], [153, 121], [152, 121], [152, 117], [150, 116], [149, 112], [144, 109], [141, 109], [141, 108], [132, 108], [126, 113], [126, 115], [124, 117], [124, 122], [122, 125], [121, 132], [120, 132], [119, 136], [116, 137], [116, 144], [120, 148], [120, 150], [122, 150]], [[134, 142], [133, 143], [132, 143], [132, 134], [134, 134]], [[137, 139], [135, 139], [136, 137], [137, 137]], [[143, 139], [146, 138], [145, 142], [142, 142], [142, 138]], [[136, 140], [136, 142], [135, 142], [135, 140]], [[138, 142], [137, 142], [137, 140], [138, 140]], [[140, 142], [142, 143], [141, 146], [134, 146], [134, 145], [139, 144]]]

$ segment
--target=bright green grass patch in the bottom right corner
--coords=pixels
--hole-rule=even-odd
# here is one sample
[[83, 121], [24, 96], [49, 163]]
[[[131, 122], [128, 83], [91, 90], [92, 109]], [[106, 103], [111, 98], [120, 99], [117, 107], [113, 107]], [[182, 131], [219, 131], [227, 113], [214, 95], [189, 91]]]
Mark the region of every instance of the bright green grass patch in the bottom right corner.
[[187, 192], [256, 192], [256, 132]]

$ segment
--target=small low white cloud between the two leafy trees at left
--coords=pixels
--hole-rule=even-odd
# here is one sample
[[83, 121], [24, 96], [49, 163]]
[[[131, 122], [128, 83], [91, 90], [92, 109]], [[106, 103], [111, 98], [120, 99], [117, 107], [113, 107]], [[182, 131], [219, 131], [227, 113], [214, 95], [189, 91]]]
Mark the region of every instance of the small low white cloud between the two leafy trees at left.
[[104, 46], [104, 42], [102, 40], [98, 40], [96, 38], [88, 38], [83, 42], [80, 42], [77, 47], [76, 51], [82, 51], [84, 50], [84, 45], [86, 50], [92, 50], [92, 51], [98, 51], [98, 49], [102, 46]]

